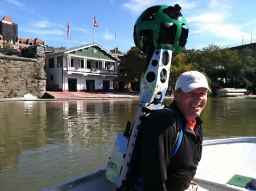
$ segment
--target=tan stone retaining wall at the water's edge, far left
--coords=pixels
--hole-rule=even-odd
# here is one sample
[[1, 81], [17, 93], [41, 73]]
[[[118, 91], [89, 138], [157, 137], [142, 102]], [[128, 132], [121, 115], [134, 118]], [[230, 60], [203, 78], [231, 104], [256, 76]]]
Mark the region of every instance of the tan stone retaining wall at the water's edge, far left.
[[23, 49], [22, 54], [34, 58], [0, 55], [0, 98], [27, 93], [41, 98], [46, 92], [44, 46], [34, 45]]

